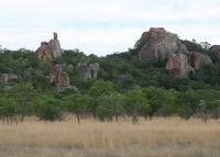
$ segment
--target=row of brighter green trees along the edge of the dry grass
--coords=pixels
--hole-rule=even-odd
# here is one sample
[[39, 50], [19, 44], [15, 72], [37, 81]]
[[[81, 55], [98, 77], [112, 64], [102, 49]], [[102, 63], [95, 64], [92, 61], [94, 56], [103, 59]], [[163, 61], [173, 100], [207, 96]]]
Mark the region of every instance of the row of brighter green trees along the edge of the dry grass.
[[130, 116], [136, 124], [140, 116], [179, 115], [189, 120], [196, 113], [209, 113], [219, 119], [220, 91], [218, 90], [166, 90], [156, 87], [133, 87], [125, 93], [110, 81], [97, 80], [87, 93], [79, 91], [34, 90], [31, 83], [15, 85], [11, 90], [0, 91], [0, 115], [3, 121], [24, 121], [28, 115], [41, 120], [64, 120], [65, 113], [75, 114], [78, 123], [85, 115], [100, 121], [119, 121]]

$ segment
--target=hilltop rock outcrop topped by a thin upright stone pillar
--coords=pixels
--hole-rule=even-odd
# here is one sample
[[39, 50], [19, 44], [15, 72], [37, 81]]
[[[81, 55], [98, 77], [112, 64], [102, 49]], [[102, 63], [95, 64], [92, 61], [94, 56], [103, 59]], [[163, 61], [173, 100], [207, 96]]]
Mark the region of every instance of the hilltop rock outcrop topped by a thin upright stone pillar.
[[35, 52], [37, 58], [44, 61], [51, 61], [57, 57], [62, 56], [62, 48], [59, 41], [57, 40], [57, 33], [54, 33], [54, 40], [47, 42], [42, 42], [41, 47]]

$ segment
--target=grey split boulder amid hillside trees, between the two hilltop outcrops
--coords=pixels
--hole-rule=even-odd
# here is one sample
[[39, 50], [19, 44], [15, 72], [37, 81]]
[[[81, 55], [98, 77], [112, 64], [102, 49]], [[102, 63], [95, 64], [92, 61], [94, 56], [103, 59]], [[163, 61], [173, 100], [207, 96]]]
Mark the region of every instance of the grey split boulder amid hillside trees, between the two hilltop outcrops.
[[99, 64], [89, 64], [87, 63], [86, 58], [81, 58], [81, 60], [77, 64], [77, 67], [80, 68], [82, 71], [82, 78], [85, 81], [89, 79], [97, 79], [98, 71], [99, 71]]

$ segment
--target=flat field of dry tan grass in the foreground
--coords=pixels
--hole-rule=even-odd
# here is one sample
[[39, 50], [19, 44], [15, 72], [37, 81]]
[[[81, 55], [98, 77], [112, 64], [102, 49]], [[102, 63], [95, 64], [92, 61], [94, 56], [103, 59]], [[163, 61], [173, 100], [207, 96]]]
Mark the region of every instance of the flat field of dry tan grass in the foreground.
[[179, 117], [0, 123], [0, 157], [219, 157], [220, 123]]

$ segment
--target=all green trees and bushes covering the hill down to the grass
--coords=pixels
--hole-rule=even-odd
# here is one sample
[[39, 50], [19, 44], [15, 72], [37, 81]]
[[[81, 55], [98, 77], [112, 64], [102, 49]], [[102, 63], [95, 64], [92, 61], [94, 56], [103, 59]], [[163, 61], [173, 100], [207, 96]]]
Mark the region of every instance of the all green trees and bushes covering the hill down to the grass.
[[[63, 120], [66, 112], [77, 115], [78, 123], [84, 115], [101, 121], [132, 116], [135, 124], [139, 115], [168, 117], [177, 114], [188, 120], [195, 113], [209, 113], [219, 119], [220, 112], [220, 58], [201, 44], [182, 41], [189, 51], [210, 56], [213, 65], [191, 74], [189, 78], [172, 78], [165, 69], [165, 61], [138, 59], [140, 47], [147, 41], [135, 43], [128, 52], [106, 57], [87, 56], [80, 51], [64, 51], [61, 58], [43, 61], [31, 51], [6, 51], [0, 53], [0, 74], [16, 74], [41, 69], [45, 76], [55, 64], [73, 65], [64, 68], [70, 85], [78, 88], [63, 92], [51, 90], [46, 77], [32, 75], [25, 80], [10, 79], [10, 90], [0, 89], [0, 115], [12, 120], [19, 115], [36, 115], [41, 120]], [[98, 80], [84, 81], [77, 63], [85, 57], [88, 63], [99, 63]], [[3, 86], [1, 86], [3, 88]], [[202, 103], [201, 103], [202, 102]], [[6, 105], [10, 103], [10, 105]], [[10, 106], [10, 108], [9, 108]], [[6, 119], [4, 119], [6, 117]]]

